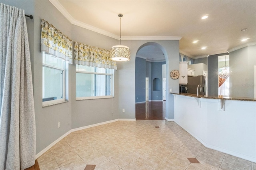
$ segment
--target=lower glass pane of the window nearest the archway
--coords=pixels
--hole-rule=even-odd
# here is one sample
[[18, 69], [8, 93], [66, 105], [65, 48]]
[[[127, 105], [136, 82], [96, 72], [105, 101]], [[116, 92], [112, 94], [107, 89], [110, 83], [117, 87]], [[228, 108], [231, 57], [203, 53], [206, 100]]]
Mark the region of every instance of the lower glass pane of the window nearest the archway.
[[76, 73], [76, 97], [111, 95], [111, 75]]

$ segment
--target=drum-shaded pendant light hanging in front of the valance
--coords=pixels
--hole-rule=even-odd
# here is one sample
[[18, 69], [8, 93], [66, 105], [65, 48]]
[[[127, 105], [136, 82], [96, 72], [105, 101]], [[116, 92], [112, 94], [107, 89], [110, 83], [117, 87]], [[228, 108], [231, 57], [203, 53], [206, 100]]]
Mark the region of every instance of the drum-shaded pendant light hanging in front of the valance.
[[110, 49], [110, 59], [113, 61], [130, 61], [130, 49], [121, 45], [121, 18], [123, 14], [118, 14], [120, 18], [120, 45], [115, 45]]

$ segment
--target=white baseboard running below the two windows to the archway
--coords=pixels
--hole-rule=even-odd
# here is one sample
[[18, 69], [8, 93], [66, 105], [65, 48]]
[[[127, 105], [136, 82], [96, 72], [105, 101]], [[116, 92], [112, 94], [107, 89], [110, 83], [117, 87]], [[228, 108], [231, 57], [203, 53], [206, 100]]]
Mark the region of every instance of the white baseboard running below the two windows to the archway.
[[73, 129], [69, 130], [68, 132], [66, 132], [65, 134], [63, 134], [62, 136], [60, 136], [57, 140], [52, 142], [50, 145], [48, 145], [46, 148], [44, 148], [38, 154], [36, 154], [36, 159], [39, 158], [40, 156], [42, 156], [42, 154], [44, 154], [47, 150], [49, 150], [56, 143], [60, 142], [60, 140], [62, 140], [64, 137], [68, 136], [68, 134], [70, 134], [71, 132], [75, 132], [75, 131], [78, 131], [78, 130], [83, 130], [83, 129], [91, 128], [91, 127], [96, 127], [96, 126], [100, 126], [100, 125], [105, 125], [105, 124], [112, 123], [112, 122], [117, 122], [117, 121], [136, 121], [136, 119], [115, 119], [115, 120], [106, 121], [106, 122], [102, 122], [102, 123], [96, 123], [96, 124], [93, 124], [93, 125], [88, 125], [88, 126], [84, 126], [84, 127], [80, 127], [80, 128], [73, 128]]

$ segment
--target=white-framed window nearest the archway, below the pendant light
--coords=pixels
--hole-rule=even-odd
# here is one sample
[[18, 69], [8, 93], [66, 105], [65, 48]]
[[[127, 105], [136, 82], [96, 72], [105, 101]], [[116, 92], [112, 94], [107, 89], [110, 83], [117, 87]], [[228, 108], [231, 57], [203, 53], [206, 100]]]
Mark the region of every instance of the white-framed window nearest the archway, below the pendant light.
[[76, 65], [76, 99], [113, 97], [113, 69]]

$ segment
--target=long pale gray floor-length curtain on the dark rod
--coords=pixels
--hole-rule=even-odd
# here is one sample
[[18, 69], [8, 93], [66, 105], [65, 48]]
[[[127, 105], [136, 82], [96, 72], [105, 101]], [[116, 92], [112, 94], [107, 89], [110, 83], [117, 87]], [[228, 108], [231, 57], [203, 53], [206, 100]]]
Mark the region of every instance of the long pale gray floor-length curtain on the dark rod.
[[24, 10], [0, 4], [0, 170], [35, 163], [34, 97]]

